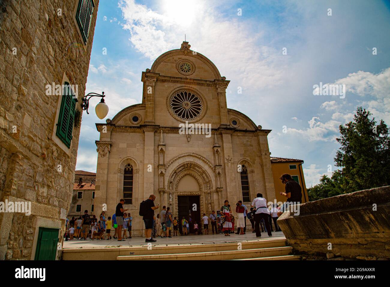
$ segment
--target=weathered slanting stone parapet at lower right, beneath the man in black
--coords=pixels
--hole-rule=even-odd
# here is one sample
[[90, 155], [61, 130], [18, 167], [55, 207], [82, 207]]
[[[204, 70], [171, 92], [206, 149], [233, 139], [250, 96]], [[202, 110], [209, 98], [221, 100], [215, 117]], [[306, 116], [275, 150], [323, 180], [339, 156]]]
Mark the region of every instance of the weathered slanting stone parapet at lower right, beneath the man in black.
[[390, 258], [390, 186], [310, 201], [299, 211], [278, 219], [295, 251], [328, 258]]

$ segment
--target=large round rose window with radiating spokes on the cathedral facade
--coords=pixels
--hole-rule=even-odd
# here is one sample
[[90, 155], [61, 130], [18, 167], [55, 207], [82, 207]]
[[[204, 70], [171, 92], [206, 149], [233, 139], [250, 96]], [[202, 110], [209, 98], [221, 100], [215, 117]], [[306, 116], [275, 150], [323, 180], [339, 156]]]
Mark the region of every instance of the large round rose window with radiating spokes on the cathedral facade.
[[170, 108], [178, 118], [191, 121], [202, 114], [203, 103], [197, 94], [184, 90], [172, 95]]

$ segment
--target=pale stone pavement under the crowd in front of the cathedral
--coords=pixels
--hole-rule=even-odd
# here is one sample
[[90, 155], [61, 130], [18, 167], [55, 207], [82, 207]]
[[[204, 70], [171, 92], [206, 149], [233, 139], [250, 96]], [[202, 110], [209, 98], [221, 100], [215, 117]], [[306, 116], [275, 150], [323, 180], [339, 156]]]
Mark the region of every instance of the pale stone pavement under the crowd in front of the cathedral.
[[[212, 244], [212, 243], [226, 243], [226, 242], [239, 242], [239, 241], [248, 241], [248, 240], [257, 240], [257, 239], [285, 239], [283, 232], [272, 232], [272, 237], [268, 237], [267, 233], [261, 233], [261, 237], [257, 238], [255, 233], [252, 231], [247, 232], [244, 235], [230, 234], [230, 236], [225, 236], [223, 234], [209, 234], [209, 235], [187, 235], [187, 236], [172, 236], [172, 238], [154, 238], [157, 240], [153, 242], [155, 245], [159, 244]], [[63, 249], [75, 249], [75, 248], [106, 248], [106, 247], [131, 247], [137, 245], [145, 245], [145, 237], [132, 237], [131, 239], [126, 239], [126, 241], [117, 241], [117, 239], [111, 240], [80, 240], [73, 239], [71, 241], [64, 241]]]

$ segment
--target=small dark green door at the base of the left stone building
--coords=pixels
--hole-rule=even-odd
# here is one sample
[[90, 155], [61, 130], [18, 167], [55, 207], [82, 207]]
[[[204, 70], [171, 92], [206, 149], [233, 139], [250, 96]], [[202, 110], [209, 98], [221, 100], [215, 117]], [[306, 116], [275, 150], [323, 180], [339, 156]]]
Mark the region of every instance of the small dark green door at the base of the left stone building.
[[35, 260], [55, 260], [58, 230], [58, 228], [39, 227]]

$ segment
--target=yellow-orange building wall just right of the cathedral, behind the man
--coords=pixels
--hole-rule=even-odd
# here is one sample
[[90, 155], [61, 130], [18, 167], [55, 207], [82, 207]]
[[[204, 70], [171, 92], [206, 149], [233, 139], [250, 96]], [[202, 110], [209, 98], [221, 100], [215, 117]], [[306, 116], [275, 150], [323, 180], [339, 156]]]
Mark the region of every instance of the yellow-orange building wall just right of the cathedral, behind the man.
[[[284, 189], [285, 185], [282, 184], [282, 181], [279, 179], [280, 176], [284, 173], [288, 173], [291, 176], [294, 176], [294, 175], [298, 176], [299, 185], [303, 188], [302, 203], [305, 203], [308, 201], [305, 177], [303, 176], [302, 166], [299, 165], [300, 163], [301, 162], [271, 162], [273, 182], [275, 184], [275, 196], [276, 196], [277, 202], [279, 202], [279, 201], [285, 202], [286, 201], [286, 197], [279, 194], [280, 192], [285, 192], [285, 189]], [[291, 164], [295, 164], [296, 169], [290, 169], [289, 166]]]

